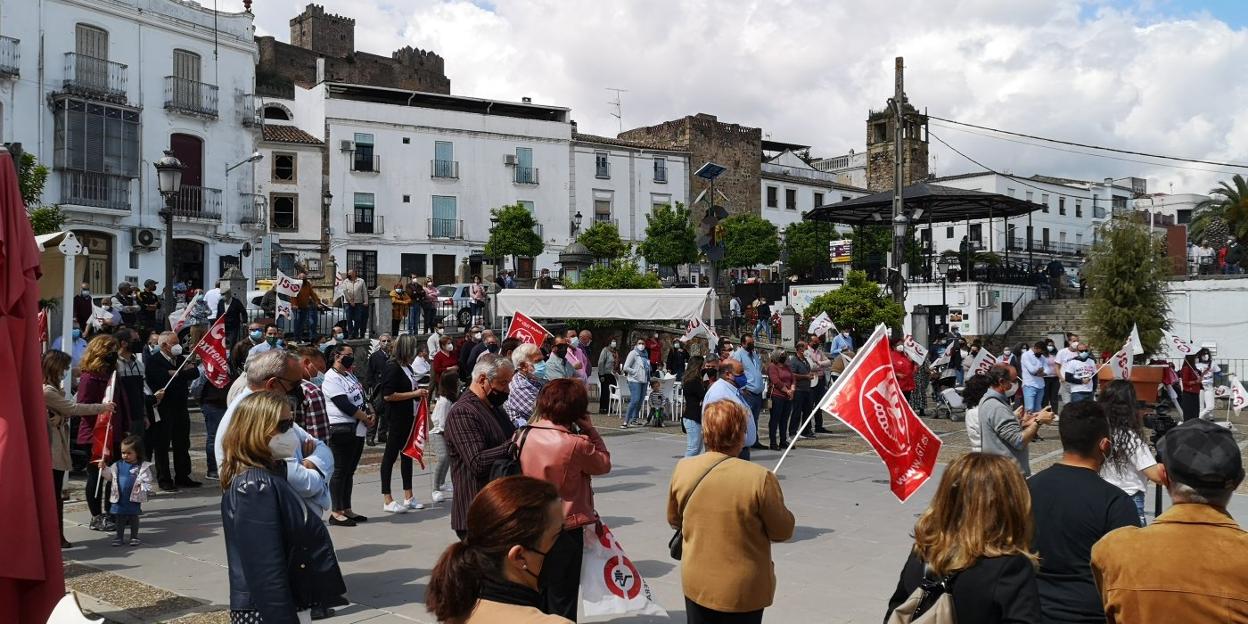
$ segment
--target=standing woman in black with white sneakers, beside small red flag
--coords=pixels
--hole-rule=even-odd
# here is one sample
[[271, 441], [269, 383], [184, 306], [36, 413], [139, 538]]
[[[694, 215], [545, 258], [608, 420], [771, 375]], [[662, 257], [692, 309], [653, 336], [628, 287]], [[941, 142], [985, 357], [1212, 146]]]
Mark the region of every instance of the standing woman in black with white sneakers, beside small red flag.
[[[429, 393], [429, 391], [419, 388], [419, 378], [412, 369], [417, 346], [416, 336], [411, 333], [399, 336], [378, 381], [381, 389], [377, 394], [386, 402], [386, 413], [389, 418], [389, 434], [386, 437], [386, 453], [382, 456], [381, 474], [382, 510], [387, 513], [424, 509], [424, 505], [412, 494], [412, 458], [402, 454], [416, 423], [416, 402], [417, 399], [424, 401]], [[394, 459], [399, 459], [398, 472], [403, 479], [402, 503], [394, 500], [389, 489]]]

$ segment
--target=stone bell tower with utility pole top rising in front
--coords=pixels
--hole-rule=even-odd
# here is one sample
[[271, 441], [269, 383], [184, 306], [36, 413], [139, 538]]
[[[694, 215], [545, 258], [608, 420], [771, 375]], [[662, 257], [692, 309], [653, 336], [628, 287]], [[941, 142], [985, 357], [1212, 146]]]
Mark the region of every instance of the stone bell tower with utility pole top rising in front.
[[[927, 116], [919, 112], [905, 95], [902, 59], [896, 61], [896, 92], [901, 94], [902, 139], [901, 181], [912, 185], [927, 177]], [[894, 129], [897, 120], [892, 106], [870, 111], [866, 119], [866, 187], [870, 191], [892, 191]]]

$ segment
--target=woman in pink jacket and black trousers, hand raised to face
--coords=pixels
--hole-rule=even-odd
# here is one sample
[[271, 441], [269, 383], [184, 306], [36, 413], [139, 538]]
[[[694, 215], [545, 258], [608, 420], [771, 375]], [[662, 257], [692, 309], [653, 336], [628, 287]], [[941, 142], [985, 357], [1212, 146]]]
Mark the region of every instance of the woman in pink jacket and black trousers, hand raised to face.
[[612, 454], [589, 419], [589, 394], [579, 379], [554, 379], [533, 409], [542, 424], [522, 433], [520, 468], [548, 480], [563, 499], [563, 532], [547, 552], [538, 584], [543, 613], [577, 620], [580, 554], [587, 524], [598, 522], [590, 477], [612, 470]]

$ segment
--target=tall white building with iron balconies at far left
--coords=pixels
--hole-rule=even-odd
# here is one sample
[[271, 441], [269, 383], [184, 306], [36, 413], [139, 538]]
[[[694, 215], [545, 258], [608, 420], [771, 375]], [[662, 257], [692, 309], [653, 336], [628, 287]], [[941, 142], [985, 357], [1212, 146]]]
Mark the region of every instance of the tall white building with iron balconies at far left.
[[[211, 285], [240, 265], [258, 129], [250, 12], [173, 0], [9, 2], [0, 15], [0, 140], [51, 168], [42, 201], [89, 250], [97, 293], [121, 281]], [[173, 240], [152, 162], [183, 163]]]

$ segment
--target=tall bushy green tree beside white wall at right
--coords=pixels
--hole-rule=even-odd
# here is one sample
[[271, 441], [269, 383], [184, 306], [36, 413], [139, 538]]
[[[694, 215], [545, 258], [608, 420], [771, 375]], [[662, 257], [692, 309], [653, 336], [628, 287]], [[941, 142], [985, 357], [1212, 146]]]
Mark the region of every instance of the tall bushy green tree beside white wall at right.
[[1087, 319], [1091, 343], [1117, 351], [1137, 324], [1144, 354], [1156, 352], [1162, 329], [1169, 327], [1169, 272], [1164, 245], [1153, 238], [1148, 226], [1126, 217], [1102, 226], [1083, 267], [1092, 291]]

